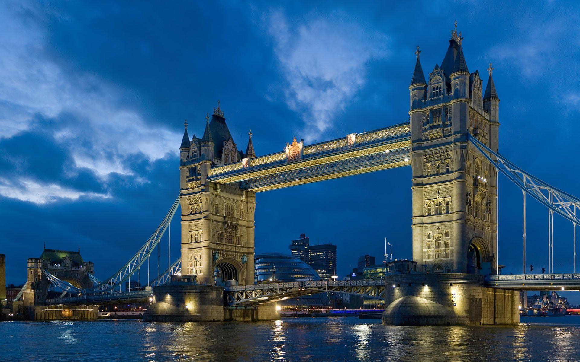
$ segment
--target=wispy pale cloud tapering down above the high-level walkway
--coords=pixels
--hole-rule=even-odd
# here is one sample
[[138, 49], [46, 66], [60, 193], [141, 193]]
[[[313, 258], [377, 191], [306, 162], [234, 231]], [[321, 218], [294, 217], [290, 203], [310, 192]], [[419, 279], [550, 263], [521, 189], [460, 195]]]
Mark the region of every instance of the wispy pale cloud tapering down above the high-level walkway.
[[365, 85], [367, 64], [390, 54], [389, 38], [350, 21], [343, 13], [289, 24], [281, 12], [268, 17], [268, 34], [288, 83], [285, 101], [302, 114], [312, 140], [332, 127]]

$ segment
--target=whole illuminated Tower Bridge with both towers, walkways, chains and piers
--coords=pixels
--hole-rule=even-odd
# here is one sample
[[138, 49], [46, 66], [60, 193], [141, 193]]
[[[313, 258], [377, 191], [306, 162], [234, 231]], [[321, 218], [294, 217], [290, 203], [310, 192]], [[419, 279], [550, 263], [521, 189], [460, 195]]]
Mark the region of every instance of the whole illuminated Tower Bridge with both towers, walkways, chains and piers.
[[[385, 324], [509, 324], [519, 321], [517, 290], [578, 290], [576, 270], [554, 273], [553, 215], [561, 215], [575, 227], [580, 223], [580, 199], [526, 173], [499, 153], [494, 68], [490, 64], [484, 88], [480, 72], [467, 68], [463, 38], [456, 28], [441, 65], [434, 65], [429, 78], [423, 73], [420, 53], [417, 47], [408, 87], [409, 121], [395, 126], [345, 133], [313, 145], [294, 138], [282, 152], [256, 156], [251, 132], [246, 151], [238, 149], [219, 103], [211, 118], [206, 116], [201, 138], [189, 136], [186, 122], [179, 148], [179, 198], [150, 239], [110, 278], [92, 277], [91, 287], [74, 285], [44, 270], [47, 280], [73, 294], [46, 302], [88, 304], [118, 301], [123, 295], [127, 300], [152, 297], [154, 304], [146, 313], [149, 320], [245, 320], [276, 317], [271, 306], [284, 298], [334, 291], [384, 298]], [[412, 259], [419, 270], [392, 273], [372, 283], [253, 285], [256, 193], [403, 166], [411, 166]], [[524, 274], [520, 276], [499, 275], [499, 173], [524, 195]], [[526, 195], [548, 210], [546, 275], [525, 275]], [[148, 283], [151, 292], [124, 294], [121, 283], [155, 257], [152, 252], [159, 248], [177, 206], [180, 265], [165, 273], [159, 270]], [[216, 270], [238, 285], [214, 286]], [[230, 308], [224, 311], [227, 305]]]

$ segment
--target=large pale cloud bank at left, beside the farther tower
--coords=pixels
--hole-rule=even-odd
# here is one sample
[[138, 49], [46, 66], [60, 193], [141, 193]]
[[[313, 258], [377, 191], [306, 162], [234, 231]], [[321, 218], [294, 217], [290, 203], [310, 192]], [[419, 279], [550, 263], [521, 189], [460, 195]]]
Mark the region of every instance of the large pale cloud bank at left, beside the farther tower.
[[[131, 90], [95, 74], [71, 74], [55, 63], [46, 52], [48, 35], [42, 28], [45, 16], [55, 16], [49, 14], [35, 6], [0, 5], [0, 142], [42, 127], [43, 137], [66, 149], [70, 162], [57, 169], [60, 179], [54, 177], [49, 184], [20, 179], [34, 173], [30, 168], [34, 164], [16, 167], [28, 151], [12, 149], [8, 163], [16, 165], [19, 173], [8, 175], [9, 169], [2, 170], [0, 195], [34, 203], [86, 195], [102, 198], [107, 194], [67, 185], [70, 175], [90, 170], [103, 183], [112, 173], [135, 175], [135, 167], [127, 162], [132, 155], [153, 162], [175, 154], [181, 135], [162, 125], [148, 125], [139, 112], [122, 105], [127, 98], [137, 97]], [[34, 152], [53, 156], [46, 149]]]

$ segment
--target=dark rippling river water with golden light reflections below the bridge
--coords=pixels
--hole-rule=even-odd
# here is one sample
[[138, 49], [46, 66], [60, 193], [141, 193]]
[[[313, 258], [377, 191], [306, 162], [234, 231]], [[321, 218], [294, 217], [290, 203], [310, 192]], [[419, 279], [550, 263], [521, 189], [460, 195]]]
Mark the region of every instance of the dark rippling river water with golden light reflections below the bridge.
[[256, 323], [0, 323], [2, 361], [578, 361], [580, 316], [393, 327], [356, 317]]

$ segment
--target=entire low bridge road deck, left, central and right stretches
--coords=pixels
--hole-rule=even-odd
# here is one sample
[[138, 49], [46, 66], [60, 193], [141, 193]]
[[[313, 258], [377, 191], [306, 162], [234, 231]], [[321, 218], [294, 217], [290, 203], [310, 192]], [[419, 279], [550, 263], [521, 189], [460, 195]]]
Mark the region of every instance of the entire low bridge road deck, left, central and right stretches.
[[[485, 286], [510, 290], [579, 290], [580, 273], [488, 275]], [[388, 287], [388, 286], [387, 286]], [[320, 292], [339, 292], [370, 299], [385, 298], [384, 280], [290, 281], [225, 287], [230, 306], [257, 306]], [[147, 303], [147, 290], [46, 299], [47, 305]]]

